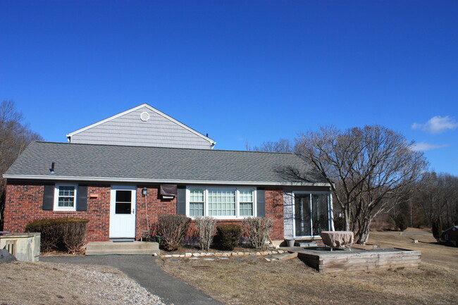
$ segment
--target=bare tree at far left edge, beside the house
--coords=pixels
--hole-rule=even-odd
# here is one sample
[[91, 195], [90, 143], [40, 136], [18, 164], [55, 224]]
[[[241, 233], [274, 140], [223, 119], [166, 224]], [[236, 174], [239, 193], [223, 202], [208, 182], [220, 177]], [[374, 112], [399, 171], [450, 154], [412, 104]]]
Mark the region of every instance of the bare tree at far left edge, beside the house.
[[42, 139], [23, 123], [14, 101], [0, 103], [0, 229], [3, 228], [6, 180], [1, 178], [30, 142]]

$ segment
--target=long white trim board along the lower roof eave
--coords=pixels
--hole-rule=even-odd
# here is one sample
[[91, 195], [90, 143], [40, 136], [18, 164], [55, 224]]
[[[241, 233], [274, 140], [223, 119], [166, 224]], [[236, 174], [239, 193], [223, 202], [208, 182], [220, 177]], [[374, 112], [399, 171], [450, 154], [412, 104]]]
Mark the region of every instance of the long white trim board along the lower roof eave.
[[213, 180], [175, 180], [175, 179], [145, 179], [145, 178], [113, 178], [113, 177], [77, 177], [57, 175], [3, 175], [6, 179], [24, 180], [67, 180], [67, 181], [107, 181], [107, 182], [151, 182], [151, 183], [181, 183], [204, 185], [277, 185], [277, 186], [309, 186], [330, 187], [329, 183], [310, 182], [263, 182], [263, 181], [213, 181]]

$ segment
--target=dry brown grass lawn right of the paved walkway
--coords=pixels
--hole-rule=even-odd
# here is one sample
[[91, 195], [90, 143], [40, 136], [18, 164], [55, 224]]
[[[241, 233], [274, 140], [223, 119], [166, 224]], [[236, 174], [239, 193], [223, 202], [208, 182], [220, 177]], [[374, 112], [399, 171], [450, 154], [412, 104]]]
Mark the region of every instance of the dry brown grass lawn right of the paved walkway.
[[[299, 259], [269, 263], [249, 256], [158, 263], [225, 304], [458, 304], [458, 249], [423, 243], [428, 235], [412, 244], [411, 236], [390, 234], [374, 234], [371, 242], [420, 249], [426, 263], [418, 269], [356, 273], [318, 273]], [[452, 267], [440, 266], [445, 262]]]

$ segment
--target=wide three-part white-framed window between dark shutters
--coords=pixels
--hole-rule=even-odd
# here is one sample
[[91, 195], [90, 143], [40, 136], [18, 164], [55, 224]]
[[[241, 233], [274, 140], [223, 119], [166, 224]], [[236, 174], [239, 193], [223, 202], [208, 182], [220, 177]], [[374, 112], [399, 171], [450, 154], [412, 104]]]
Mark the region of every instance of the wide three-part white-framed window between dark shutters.
[[187, 187], [186, 215], [237, 219], [256, 216], [254, 187]]

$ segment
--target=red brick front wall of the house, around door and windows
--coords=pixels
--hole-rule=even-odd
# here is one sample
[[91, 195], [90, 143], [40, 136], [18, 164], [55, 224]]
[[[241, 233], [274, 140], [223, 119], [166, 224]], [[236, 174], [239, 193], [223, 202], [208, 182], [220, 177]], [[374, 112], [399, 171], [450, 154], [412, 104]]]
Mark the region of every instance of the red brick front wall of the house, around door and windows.
[[[147, 196], [142, 195], [144, 185], [137, 186], [136, 239], [149, 228], [155, 232], [158, 217], [162, 214], [176, 213], [176, 199], [162, 199], [159, 186], [147, 186]], [[87, 199], [87, 211], [43, 211], [43, 185], [41, 183], [15, 183], [6, 187], [6, 208], [4, 230], [23, 232], [25, 225], [41, 218], [78, 217], [88, 218], [87, 239], [92, 241], [109, 240], [110, 185], [89, 185], [88, 195], [97, 198]], [[283, 189], [266, 188], [266, 217], [273, 218], [272, 239], [283, 239]], [[242, 220], [218, 220], [218, 223], [237, 223]], [[192, 226], [193, 227], [193, 226]]]

